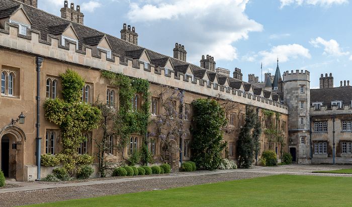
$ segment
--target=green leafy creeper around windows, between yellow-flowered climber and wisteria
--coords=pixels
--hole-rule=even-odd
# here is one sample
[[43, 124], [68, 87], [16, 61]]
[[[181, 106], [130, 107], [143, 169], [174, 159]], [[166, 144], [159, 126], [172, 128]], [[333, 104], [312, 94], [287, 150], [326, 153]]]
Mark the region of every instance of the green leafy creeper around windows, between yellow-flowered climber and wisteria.
[[[125, 149], [132, 133], [138, 133], [141, 135], [142, 139], [140, 161], [142, 164], [150, 162], [150, 152], [147, 147], [149, 142], [147, 132], [151, 115], [149, 110], [151, 106], [149, 98], [149, 81], [141, 78], [130, 78], [124, 74], [114, 73], [107, 70], [102, 70], [101, 76], [107, 78], [110, 85], [119, 88], [120, 106], [113, 127], [120, 139], [120, 149], [122, 149], [122, 151]], [[142, 94], [143, 101], [141, 109], [133, 110], [133, 103], [131, 100], [133, 100], [136, 93]], [[124, 153], [122, 153], [122, 156], [123, 154]], [[123, 156], [123, 159], [135, 164], [137, 162], [136, 156], [131, 158], [125, 158]]]

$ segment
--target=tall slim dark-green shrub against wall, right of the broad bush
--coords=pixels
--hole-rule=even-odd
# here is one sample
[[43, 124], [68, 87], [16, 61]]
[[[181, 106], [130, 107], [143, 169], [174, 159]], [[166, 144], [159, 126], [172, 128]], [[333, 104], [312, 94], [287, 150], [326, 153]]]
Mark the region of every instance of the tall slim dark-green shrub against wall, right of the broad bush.
[[239, 167], [249, 168], [254, 161], [254, 155], [260, 143], [261, 125], [253, 106], [246, 108], [245, 124], [241, 128], [237, 140]]

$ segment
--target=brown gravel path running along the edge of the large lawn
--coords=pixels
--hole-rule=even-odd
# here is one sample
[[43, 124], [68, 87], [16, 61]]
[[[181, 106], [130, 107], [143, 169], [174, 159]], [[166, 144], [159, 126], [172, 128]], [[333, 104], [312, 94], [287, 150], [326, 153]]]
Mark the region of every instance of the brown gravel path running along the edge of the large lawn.
[[[233, 172], [226, 170], [216, 170], [219, 174], [203, 175], [209, 171], [196, 171], [190, 173], [172, 173], [173, 176], [159, 177], [153, 179], [143, 179], [136, 181], [126, 181], [120, 183], [93, 184], [84, 186], [68, 186], [50, 189], [0, 193], [0, 206], [17, 206], [35, 203], [54, 202], [61, 200], [97, 197], [105, 195], [116, 195], [140, 191], [150, 191], [155, 189], [168, 189], [199, 185], [205, 183], [223, 182], [229, 180], [247, 179], [262, 177], [274, 174], [302, 174], [320, 176], [352, 176], [350, 174], [321, 174], [311, 173], [319, 170], [347, 169], [351, 166], [333, 165], [285, 165], [278, 167], [258, 167], [251, 169], [237, 169]], [[214, 173], [214, 171], [212, 171]], [[189, 175], [189, 176], [185, 176]], [[116, 178], [112, 178], [116, 179]], [[48, 184], [48, 183], [46, 183]]]

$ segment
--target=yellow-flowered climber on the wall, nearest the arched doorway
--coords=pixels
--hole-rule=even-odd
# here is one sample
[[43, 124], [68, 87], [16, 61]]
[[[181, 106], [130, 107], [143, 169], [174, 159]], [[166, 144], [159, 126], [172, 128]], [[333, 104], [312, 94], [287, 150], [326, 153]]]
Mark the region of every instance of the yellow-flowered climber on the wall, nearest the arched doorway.
[[82, 131], [98, 128], [100, 110], [90, 104], [80, 102], [84, 79], [73, 70], [67, 69], [60, 74], [62, 82], [62, 99], [48, 98], [44, 103], [45, 118], [59, 125], [62, 138], [62, 151], [56, 156], [63, 163], [64, 169], [72, 176], [84, 164], [92, 164], [93, 157], [79, 155], [77, 148], [86, 141]]

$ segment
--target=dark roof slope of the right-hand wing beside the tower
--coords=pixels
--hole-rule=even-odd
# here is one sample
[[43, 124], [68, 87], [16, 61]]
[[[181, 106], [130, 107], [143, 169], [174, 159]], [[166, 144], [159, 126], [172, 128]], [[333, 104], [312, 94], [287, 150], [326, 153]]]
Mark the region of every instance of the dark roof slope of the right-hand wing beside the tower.
[[349, 105], [352, 100], [352, 86], [310, 89], [310, 105], [322, 101], [323, 106], [331, 109], [331, 101], [342, 100], [342, 105]]

